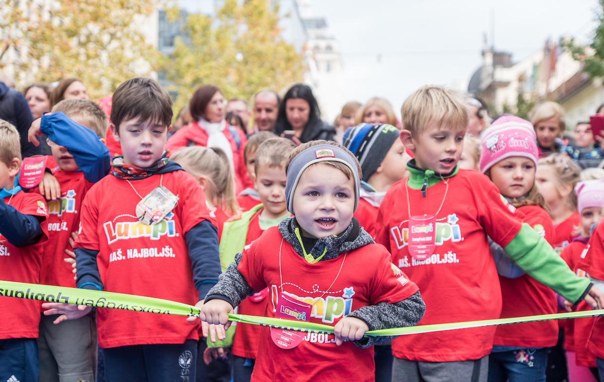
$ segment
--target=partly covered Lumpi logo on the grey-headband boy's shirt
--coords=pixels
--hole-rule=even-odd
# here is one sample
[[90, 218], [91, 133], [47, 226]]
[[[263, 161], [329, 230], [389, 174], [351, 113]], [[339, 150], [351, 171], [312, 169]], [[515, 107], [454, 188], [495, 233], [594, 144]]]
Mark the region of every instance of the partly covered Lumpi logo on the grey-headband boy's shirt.
[[[339, 291], [341, 293], [340, 296], [322, 296], [322, 297], [311, 297], [304, 296], [304, 294], [323, 294], [323, 291], [318, 290], [318, 285], [315, 284], [316, 291], [306, 291], [303, 290], [298, 285], [293, 283], [288, 283], [288, 285], [293, 285], [298, 288], [298, 290], [303, 293], [302, 296], [297, 296], [294, 293], [283, 291], [283, 294], [286, 294], [294, 299], [305, 302], [307, 304], [312, 305], [312, 311], [310, 312], [310, 317], [316, 317], [321, 319], [321, 321], [325, 323], [333, 323], [335, 319], [339, 317], [344, 317], [352, 311], [352, 296], [355, 295], [355, 288], [348, 287]], [[335, 292], [328, 292], [325, 294], [335, 294]], [[279, 298], [279, 291], [277, 285], [271, 285], [271, 302], [272, 302], [272, 311], [277, 311], [277, 299]]]

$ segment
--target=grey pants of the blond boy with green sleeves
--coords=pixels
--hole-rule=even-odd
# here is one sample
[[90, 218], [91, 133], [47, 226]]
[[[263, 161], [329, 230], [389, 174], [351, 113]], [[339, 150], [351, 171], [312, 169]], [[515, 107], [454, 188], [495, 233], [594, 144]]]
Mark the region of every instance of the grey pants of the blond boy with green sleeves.
[[486, 382], [489, 356], [480, 360], [454, 362], [408, 361], [394, 357], [392, 381], [404, 382]]

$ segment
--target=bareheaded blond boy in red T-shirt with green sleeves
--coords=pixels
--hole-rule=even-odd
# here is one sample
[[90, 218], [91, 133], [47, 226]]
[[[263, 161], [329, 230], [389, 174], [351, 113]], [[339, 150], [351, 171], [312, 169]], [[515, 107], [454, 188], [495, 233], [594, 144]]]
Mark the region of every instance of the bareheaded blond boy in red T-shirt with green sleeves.
[[[458, 169], [467, 127], [463, 100], [439, 86], [417, 90], [402, 106], [401, 138], [415, 159], [410, 176], [386, 193], [376, 241], [417, 283], [422, 323], [497, 319], [501, 288], [487, 235], [531, 277], [572, 302], [604, 296], [580, 279], [516, 212], [487, 176]], [[518, 144], [523, 144], [518, 142]], [[504, 149], [503, 141], [486, 141]], [[594, 296], [597, 299], [594, 300]], [[404, 335], [393, 341], [393, 380], [487, 380], [496, 328]]]

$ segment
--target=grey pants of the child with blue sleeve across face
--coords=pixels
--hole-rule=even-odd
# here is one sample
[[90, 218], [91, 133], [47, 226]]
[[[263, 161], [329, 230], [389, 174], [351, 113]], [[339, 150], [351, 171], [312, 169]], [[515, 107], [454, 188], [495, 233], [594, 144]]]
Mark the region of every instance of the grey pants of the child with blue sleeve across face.
[[54, 325], [58, 316], [40, 319], [39, 382], [94, 382], [97, 327], [91, 314]]

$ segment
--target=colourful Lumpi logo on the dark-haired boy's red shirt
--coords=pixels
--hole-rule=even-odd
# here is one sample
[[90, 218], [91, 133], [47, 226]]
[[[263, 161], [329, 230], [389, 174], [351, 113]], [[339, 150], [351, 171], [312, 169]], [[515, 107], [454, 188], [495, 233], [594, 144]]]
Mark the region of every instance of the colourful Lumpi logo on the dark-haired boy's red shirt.
[[136, 216], [127, 216], [132, 217], [135, 221], [114, 223], [114, 219], [114, 221], [103, 223], [107, 244], [123, 239], [150, 238], [151, 240], [159, 240], [164, 235], [169, 238], [177, 235], [176, 223], [172, 220], [173, 212], [170, 212], [161, 222], [155, 225], [141, 223]]

